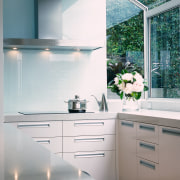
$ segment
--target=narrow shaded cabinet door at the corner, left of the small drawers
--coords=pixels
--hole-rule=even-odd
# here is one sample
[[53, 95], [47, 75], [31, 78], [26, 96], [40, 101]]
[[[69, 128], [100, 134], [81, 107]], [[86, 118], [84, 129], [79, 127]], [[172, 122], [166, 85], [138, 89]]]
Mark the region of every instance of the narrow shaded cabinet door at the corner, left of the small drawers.
[[136, 123], [119, 121], [119, 179], [137, 180]]

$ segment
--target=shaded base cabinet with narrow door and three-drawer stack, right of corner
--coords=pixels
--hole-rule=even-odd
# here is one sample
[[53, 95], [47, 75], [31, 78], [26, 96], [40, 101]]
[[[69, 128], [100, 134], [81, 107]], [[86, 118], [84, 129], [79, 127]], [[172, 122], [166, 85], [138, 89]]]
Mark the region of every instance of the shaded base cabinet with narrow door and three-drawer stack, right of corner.
[[119, 121], [119, 179], [158, 180], [158, 126]]

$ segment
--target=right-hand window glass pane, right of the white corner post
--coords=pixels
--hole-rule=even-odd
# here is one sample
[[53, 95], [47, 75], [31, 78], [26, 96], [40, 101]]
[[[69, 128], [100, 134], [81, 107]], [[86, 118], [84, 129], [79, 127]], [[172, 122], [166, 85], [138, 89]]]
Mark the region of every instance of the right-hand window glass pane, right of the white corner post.
[[151, 19], [151, 97], [180, 98], [180, 8]]

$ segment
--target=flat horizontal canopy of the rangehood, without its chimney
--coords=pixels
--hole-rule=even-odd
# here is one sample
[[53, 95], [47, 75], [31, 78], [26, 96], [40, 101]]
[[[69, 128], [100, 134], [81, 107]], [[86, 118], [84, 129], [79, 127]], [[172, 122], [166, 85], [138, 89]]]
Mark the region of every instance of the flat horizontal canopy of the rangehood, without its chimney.
[[81, 50], [90, 51], [103, 47], [102, 42], [98, 41], [77, 41], [77, 40], [58, 40], [58, 39], [4, 39], [4, 48], [20, 49], [54, 49], [54, 50]]

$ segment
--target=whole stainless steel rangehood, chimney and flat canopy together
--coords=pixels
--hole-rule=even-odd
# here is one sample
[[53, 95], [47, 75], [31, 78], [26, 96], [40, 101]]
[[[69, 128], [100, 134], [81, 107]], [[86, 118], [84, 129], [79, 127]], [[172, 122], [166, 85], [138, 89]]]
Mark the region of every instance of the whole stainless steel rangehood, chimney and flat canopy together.
[[104, 46], [101, 41], [63, 40], [62, 4], [60, 0], [35, 1], [35, 39], [4, 39], [4, 48], [96, 50]]

